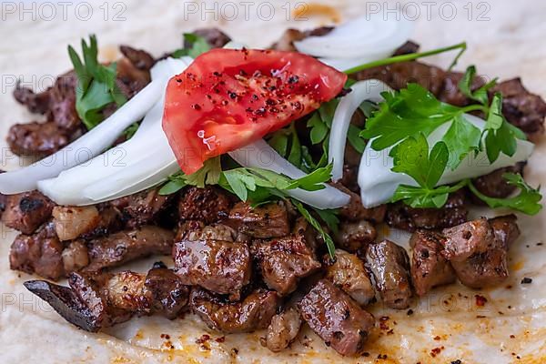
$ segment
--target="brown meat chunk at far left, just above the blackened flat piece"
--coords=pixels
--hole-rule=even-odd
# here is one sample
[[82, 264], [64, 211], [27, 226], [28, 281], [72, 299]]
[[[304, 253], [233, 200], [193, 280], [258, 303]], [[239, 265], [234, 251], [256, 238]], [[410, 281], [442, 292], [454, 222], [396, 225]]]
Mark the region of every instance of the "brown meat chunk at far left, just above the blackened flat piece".
[[11, 269], [56, 280], [65, 275], [62, 253], [63, 244], [56, 237], [55, 227], [49, 223], [33, 235], [19, 234], [15, 238], [9, 264]]

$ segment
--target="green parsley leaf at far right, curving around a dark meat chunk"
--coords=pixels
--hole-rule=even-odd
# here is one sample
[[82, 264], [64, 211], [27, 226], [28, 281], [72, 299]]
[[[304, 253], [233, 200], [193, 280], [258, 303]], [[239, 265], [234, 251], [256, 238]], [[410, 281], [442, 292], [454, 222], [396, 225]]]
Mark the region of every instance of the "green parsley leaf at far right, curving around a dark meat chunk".
[[521, 211], [527, 215], [536, 215], [541, 211], [542, 205], [540, 204], [540, 201], [542, 196], [539, 192], [541, 187], [530, 187], [519, 174], [505, 173], [502, 177], [506, 179], [509, 184], [520, 188], [520, 194], [518, 196], [509, 198], [488, 197], [481, 194], [474, 185], [469, 183], [470, 190], [491, 208], [510, 207], [511, 209]]

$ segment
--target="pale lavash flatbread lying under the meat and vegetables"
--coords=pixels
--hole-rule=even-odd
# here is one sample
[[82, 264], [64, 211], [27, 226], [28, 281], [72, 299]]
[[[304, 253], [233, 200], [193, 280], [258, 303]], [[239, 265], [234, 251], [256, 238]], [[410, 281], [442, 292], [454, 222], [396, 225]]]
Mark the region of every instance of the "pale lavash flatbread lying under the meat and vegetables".
[[[214, 21], [212, 15], [203, 20], [202, 14], [184, 15], [182, 1], [127, 1], [122, 16], [126, 21], [104, 21], [100, 4], [95, 14], [82, 21], [68, 12], [67, 20], [23, 21], [19, 14], [6, 15], [0, 22], [0, 72], [3, 76], [3, 97], [0, 98], [0, 135], [15, 122], [30, 121], [23, 107], [11, 97], [10, 79], [22, 77], [34, 86], [46, 86], [58, 74], [70, 68], [66, 45], [76, 45], [81, 37], [96, 33], [105, 60], [116, 58], [116, 45], [129, 44], [150, 50], [154, 55], [180, 45], [180, 34], [197, 27], [219, 26], [237, 41], [251, 46], [267, 46], [288, 26], [310, 28], [328, 19], [313, 17], [307, 22], [286, 20], [284, 2], [272, 2], [276, 16], [264, 21], [250, 12], [249, 19]], [[207, 2], [212, 8], [212, 2]], [[323, 2], [326, 3], [326, 2]], [[330, 2], [331, 4], [332, 2]], [[366, 6], [360, 0], [337, 2], [344, 18], [363, 14]], [[389, 2], [393, 6], [394, 2]], [[546, 3], [519, 0], [490, 2], [489, 21], [478, 21], [478, 2], [473, 20], [469, 21], [467, 2], [454, 2], [459, 12], [453, 20], [450, 13], [440, 16], [440, 5], [432, 7], [430, 20], [421, 3], [420, 20], [414, 39], [423, 49], [450, 45], [461, 40], [470, 49], [461, 59], [460, 69], [476, 64], [481, 74], [509, 78], [521, 76], [533, 92], [546, 96]], [[221, 4], [221, 3], [220, 3]], [[238, 2], [235, 3], [236, 5]], [[383, 4], [379, 2], [376, 4]], [[112, 3], [110, 4], [112, 5]], [[198, 2], [197, 5], [203, 6]], [[292, 4], [293, 5], [293, 4]], [[187, 9], [187, 7], [186, 7]], [[240, 10], [240, 6], [239, 6]], [[444, 11], [449, 9], [444, 7]], [[450, 56], [430, 59], [447, 65]], [[50, 76], [47, 76], [50, 75]], [[12, 78], [9, 78], [12, 77]], [[36, 82], [32, 82], [35, 77]], [[40, 83], [42, 81], [42, 83]], [[11, 88], [10, 88], [11, 87]], [[7, 147], [2, 140], [3, 150]], [[541, 141], [527, 168], [532, 186], [546, 183], [546, 142]], [[18, 167], [16, 158], [3, 153], [4, 169]], [[473, 211], [480, 216], [484, 211]], [[487, 212], [487, 211], [486, 211]], [[497, 211], [501, 214], [501, 211]], [[412, 315], [407, 310], [395, 311], [377, 304], [373, 314], [383, 319], [383, 329], [369, 339], [368, 357], [348, 359], [306, 329], [300, 339], [286, 352], [273, 354], [259, 345], [262, 332], [221, 335], [207, 329], [197, 318], [169, 321], [158, 317], [133, 319], [104, 333], [90, 334], [74, 328], [39, 298], [23, 288], [32, 278], [11, 271], [8, 266], [9, 246], [15, 232], [2, 227], [0, 245], [0, 359], [2, 362], [25, 363], [164, 363], [164, 362], [392, 362], [446, 363], [461, 359], [463, 363], [542, 363], [546, 362], [546, 213], [536, 217], [520, 217], [522, 236], [510, 251], [511, 278], [501, 288], [474, 291], [460, 285], [434, 289], [425, 298], [415, 301]], [[408, 246], [409, 236], [389, 232], [400, 245]], [[146, 270], [153, 259], [127, 268]], [[532, 278], [530, 285], [521, 285], [523, 277]], [[511, 288], [507, 288], [511, 287]], [[487, 298], [483, 307], [476, 305], [475, 295]], [[197, 344], [203, 334], [210, 335], [207, 344]], [[380, 358], [380, 359], [378, 359]]]

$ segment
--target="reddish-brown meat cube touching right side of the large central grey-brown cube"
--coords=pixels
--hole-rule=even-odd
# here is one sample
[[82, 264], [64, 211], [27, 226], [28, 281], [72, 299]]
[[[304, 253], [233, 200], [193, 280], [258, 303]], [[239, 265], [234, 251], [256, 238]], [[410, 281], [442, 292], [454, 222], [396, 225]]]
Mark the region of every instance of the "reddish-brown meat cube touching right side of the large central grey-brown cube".
[[252, 254], [268, 288], [275, 289], [281, 296], [292, 293], [299, 278], [308, 277], [321, 267], [304, 235], [255, 240]]

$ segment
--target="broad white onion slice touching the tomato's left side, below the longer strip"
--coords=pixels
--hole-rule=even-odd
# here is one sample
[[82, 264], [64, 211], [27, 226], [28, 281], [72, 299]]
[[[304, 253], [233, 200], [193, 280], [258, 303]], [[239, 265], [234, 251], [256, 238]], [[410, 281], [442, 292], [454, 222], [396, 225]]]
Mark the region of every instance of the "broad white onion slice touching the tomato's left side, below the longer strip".
[[[171, 59], [171, 76], [182, 72], [191, 61], [189, 57]], [[165, 87], [135, 136], [86, 164], [39, 181], [40, 191], [57, 204], [83, 206], [136, 193], [177, 172], [177, 158], [161, 127], [164, 94]]]

